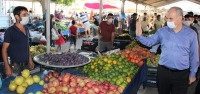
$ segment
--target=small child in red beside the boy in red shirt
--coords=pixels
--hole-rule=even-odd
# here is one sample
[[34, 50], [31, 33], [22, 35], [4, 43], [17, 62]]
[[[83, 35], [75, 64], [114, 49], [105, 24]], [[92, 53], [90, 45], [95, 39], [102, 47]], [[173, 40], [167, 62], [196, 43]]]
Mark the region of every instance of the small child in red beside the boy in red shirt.
[[61, 29], [58, 29], [59, 39], [56, 40], [55, 44], [58, 45], [56, 51], [61, 51], [61, 45], [65, 43], [64, 37], [62, 36]]

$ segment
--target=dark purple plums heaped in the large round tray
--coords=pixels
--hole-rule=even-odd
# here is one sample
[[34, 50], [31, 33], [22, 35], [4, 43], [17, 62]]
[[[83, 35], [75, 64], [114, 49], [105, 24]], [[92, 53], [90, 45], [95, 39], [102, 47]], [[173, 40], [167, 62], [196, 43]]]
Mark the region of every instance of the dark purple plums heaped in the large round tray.
[[39, 60], [56, 66], [73, 66], [89, 62], [89, 58], [86, 56], [67, 52], [62, 52], [61, 54], [46, 53], [41, 55]]

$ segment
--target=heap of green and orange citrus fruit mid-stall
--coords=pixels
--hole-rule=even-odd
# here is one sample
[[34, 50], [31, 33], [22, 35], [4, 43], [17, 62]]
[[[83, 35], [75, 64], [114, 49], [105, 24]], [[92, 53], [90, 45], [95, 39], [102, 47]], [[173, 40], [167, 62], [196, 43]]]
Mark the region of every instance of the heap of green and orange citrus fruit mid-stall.
[[138, 66], [131, 63], [124, 55], [111, 54], [105, 57], [96, 57], [84, 66], [83, 72], [89, 78], [100, 82], [108, 81], [123, 89], [138, 71]]

